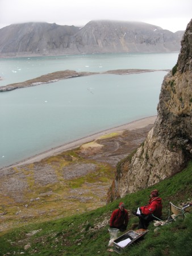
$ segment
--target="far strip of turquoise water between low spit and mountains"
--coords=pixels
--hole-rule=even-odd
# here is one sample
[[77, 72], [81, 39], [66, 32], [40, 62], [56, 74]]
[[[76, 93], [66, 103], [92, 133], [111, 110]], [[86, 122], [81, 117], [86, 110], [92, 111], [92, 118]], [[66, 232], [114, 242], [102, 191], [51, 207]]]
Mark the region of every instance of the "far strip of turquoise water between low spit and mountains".
[[117, 53], [0, 59], [0, 86], [70, 69], [103, 72], [113, 69], [172, 69], [178, 53]]

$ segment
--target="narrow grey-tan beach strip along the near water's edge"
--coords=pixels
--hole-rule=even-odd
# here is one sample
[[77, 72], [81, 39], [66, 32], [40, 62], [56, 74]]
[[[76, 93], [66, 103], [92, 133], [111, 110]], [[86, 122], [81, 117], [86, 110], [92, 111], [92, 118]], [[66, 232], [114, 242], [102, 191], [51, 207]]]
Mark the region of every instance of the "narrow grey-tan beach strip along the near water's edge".
[[106, 135], [106, 134], [110, 134], [110, 133], [114, 133], [114, 132], [123, 133], [123, 131], [125, 131], [125, 130], [140, 129], [140, 128], [143, 128], [143, 127], [153, 124], [155, 122], [156, 118], [157, 118], [157, 115], [153, 115], [151, 117], [137, 119], [135, 121], [126, 123], [124, 125], [120, 125], [120, 126], [112, 127], [110, 129], [99, 131], [98, 133], [87, 135], [86, 137], [76, 139], [75, 141], [62, 144], [60, 146], [51, 148], [47, 151], [41, 152], [40, 154], [31, 156], [30, 158], [26, 158], [24, 160], [14, 163], [14, 164], [10, 164], [10, 166], [1, 167], [0, 170], [6, 170], [11, 167], [22, 166], [24, 164], [40, 162], [40, 160], [42, 160], [42, 159], [58, 155], [61, 152], [72, 150], [73, 148], [80, 147], [80, 146], [82, 146], [82, 144], [91, 142], [91, 141], [98, 139], [99, 137]]

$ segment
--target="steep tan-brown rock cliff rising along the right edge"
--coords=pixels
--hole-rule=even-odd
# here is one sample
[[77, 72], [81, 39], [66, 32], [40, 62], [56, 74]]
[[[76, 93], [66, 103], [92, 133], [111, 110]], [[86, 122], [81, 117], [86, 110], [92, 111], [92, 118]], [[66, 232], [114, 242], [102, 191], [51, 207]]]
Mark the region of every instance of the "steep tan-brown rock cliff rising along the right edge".
[[118, 163], [108, 202], [173, 176], [192, 158], [192, 19], [181, 46], [162, 83], [155, 125], [135, 154]]

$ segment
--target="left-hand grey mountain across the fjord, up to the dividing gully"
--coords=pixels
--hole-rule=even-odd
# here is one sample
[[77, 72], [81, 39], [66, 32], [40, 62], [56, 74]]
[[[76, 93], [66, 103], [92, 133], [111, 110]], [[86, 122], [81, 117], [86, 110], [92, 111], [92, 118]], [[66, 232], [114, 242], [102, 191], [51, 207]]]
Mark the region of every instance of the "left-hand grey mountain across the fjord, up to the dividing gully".
[[78, 30], [55, 23], [12, 24], [0, 30], [0, 56], [57, 54]]

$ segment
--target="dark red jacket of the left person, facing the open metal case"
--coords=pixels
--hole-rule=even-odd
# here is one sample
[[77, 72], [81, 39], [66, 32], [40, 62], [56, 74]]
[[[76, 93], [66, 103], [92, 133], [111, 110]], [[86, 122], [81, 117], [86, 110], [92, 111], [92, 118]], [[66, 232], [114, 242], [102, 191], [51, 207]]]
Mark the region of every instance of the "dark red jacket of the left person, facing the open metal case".
[[127, 228], [128, 224], [128, 212], [126, 209], [123, 211], [120, 209], [116, 209], [112, 212], [111, 218], [110, 218], [110, 226], [113, 226], [114, 228], [120, 228], [120, 226], [124, 225]]

